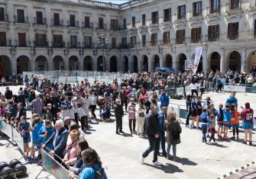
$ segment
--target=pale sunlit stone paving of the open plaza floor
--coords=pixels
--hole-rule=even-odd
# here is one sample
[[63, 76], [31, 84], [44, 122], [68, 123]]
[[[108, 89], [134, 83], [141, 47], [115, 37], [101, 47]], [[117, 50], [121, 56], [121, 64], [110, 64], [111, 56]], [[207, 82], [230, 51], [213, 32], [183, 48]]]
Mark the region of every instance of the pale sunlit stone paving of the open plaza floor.
[[[11, 88], [14, 92], [18, 87]], [[3, 88], [0, 88], [3, 92]], [[225, 104], [228, 93], [204, 94], [203, 98], [211, 97], [215, 107], [219, 103]], [[238, 106], [244, 105], [246, 101], [251, 102], [251, 106], [256, 110], [256, 94], [237, 93]], [[184, 104], [184, 100], [170, 100], [171, 103]], [[98, 111], [97, 111], [98, 112]], [[145, 159], [145, 164], [141, 165], [139, 156], [148, 147], [147, 139], [130, 134], [128, 129], [127, 116], [123, 118], [124, 135], [115, 134], [115, 117], [112, 123], [99, 123], [91, 125], [87, 132], [86, 140], [90, 147], [96, 149], [103, 162], [103, 167], [109, 178], [195, 178], [208, 179], [221, 177], [243, 165], [251, 163], [256, 158], [255, 146], [242, 144], [244, 133], [240, 133], [240, 140], [232, 142], [217, 141], [216, 145], [206, 145], [202, 143], [202, 134], [195, 129], [187, 129], [183, 124], [181, 133], [181, 143], [177, 145], [177, 156], [180, 161], [174, 162], [166, 158], [159, 157], [159, 161], [164, 164], [162, 167], [152, 165], [153, 152]], [[229, 133], [231, 135], [231, 133]], [[256, 136], [253, 135], [255, 141]], [[256, 142], [255, 142], [256, 143]], [[21, 154], [15, 147], [5, 147], [7, 141], [0, 139], [1, 161], [10, 161], [11, 158], [21, 158]], [[171, 151], [172, 154], [172, 151]], [[37, 165], [28, 165], [28, 178], [35, 178], [41, 171]], [[46, 176], [44, 172], [41, 177]], [[49, 177], [53, 178], [53, 177]]]

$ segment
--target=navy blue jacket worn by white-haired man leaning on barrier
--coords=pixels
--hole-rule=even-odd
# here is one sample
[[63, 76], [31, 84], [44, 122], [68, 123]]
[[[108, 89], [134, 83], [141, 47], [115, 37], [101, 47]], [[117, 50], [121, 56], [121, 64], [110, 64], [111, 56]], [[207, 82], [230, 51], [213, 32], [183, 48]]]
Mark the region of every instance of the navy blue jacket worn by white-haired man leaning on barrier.
[[[57, 136], [56, 136], [57, 135]], [[52, 142], [54, 144], [54, 139], [56, 136], [55, 146], [53, 145], [53, 150], [56, 155], [58, 155], [60, 158], [63, 158], [64, 150], [66, 149], [66, 141], [69, 133], [65, 128], [61, 129], [59, 133], [53, 133], [53, 135], [50, 136], [50, 138], [45, 142], [45, 145], [47, 145], [49, 142]]]

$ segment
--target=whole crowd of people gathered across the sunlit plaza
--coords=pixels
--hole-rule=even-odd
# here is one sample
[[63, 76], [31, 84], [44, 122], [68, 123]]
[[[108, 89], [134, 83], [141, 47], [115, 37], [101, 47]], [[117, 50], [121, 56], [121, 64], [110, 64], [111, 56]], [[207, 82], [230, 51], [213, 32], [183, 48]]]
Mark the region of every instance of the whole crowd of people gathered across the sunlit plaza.
[[[115, 115], [117, 135], [125, 133], [122, 120], [127, 115], [130, 133], [147, 136], [150, 146], [141, 154], [141, 163], [154, 151], [154, 165], [162, 165], [157, 161], [160, 148], [162, 156], [178, 160], [177, 144], [180, 143], [182, 129], [177, 114], [168, 111], [170, 97], [167, 88], [173, 86], [191, 85], [191, 95], [186, 95], [186, 126], [200, 129], [203, 142], [207, 142], [207, 133], [211, 134], [209, 142], [215, 142], [215, 133], [218, 133], [219, 139], [229, 140], [230, 127], [232, 138], [236, 134], [238, 139], [238, 117], [241, 116], [245, 144], [248, 142], [252, 145], [254, 113], [250, 104], [245, 104], [245, 109], [239, 113], [235, 92], [225, 101], [225, 105], [219, 104], [218, 110], [209, 97], [205, 104], [202, 102], [202, 95], [206, 90], [222, 90], [222, 85], [227, 82], [253, 85], [251, 78], [254, 80], [251, 74], [233, 72], [225, 75], [219, 72], [199, 75], [190, 72], [144, 72], [138, 74], [137, 78], [123, 79], [119, 84], [117, 80], [112, 84], [97, 81], [90, 84], [85, 80], [71, 85], [25, 76], [24, 88], [20, 88], [18, 94], [13, 94], [8, 87], [5, 94], [0, 94], [0, 112], [1, 117], [5, 117], [24, 138], [25, 158], [28, 160], [40, 161], [41, 150], [44, 149], [69, 169], [72, 177], [94, 178], [96, 174], [102, 174], [106, 178], [102, 161], [96, 150], [89, 147], [85, 133], [92, 127], [91, 123], [111, 121], [112, 114]], [[159, 94], [156, 89], [160, 89]], [[199, 91], [201, 95], [198, 94]], [[99, 116], [96, 115], [97, 107]], [[28, 110], [32, 113], [31, 120], [27, 117]], [[218, 123], [216, 130], [215, 120]], [[170, 155], [171, 147], [173, 155]]]

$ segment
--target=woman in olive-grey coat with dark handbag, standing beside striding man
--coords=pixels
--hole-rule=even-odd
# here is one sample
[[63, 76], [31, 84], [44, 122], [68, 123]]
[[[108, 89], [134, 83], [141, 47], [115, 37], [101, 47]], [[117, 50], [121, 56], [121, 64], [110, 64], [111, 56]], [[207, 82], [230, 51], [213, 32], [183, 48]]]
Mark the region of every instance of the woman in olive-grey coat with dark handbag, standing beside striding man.
[[167, 158], [170, 159], [170, 147], [173, 145], [173, 161], [177, 161], [176, 145], [180, 143], [181, 127], [180, 123], [176, 120], [176, 113], [171, 111], [167, 115], [167, 120], [164, 122], [164, 130], [167, 132]]

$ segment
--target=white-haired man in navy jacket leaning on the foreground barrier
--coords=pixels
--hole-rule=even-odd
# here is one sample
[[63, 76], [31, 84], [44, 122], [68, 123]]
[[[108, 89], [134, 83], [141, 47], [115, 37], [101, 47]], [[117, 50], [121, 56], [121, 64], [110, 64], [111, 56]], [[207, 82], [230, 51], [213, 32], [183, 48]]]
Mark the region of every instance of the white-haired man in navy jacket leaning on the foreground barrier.
[[49, 152], [51, 156], [54, 156], [55, 160], [61, 163], [62, 158], [64, 157], [64, 150], [66, 149], [66, 141], [68, 137], [68, 132], [64, 127], [63, 120], [57, 120], [55, 123], [56, 133], [53, 133], [52, 136], [42, 145], [42, 148], [47, 145], [49, 142], [53, 142], [53, 150]]

